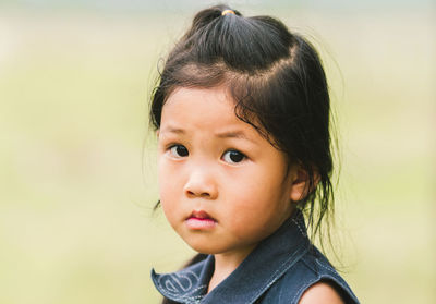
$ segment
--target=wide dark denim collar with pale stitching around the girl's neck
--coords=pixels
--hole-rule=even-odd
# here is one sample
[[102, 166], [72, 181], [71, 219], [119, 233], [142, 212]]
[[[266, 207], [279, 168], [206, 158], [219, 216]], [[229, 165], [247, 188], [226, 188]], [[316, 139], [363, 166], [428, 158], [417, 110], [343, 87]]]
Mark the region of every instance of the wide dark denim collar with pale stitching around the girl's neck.
[[215, 265], [213, 255], [172, 273], [158, 275], [153, 269], [152, 280], [164, 296], [179, 303], [254, 303], [308, 248], [303, 215], [295, 210], [208, 294]]

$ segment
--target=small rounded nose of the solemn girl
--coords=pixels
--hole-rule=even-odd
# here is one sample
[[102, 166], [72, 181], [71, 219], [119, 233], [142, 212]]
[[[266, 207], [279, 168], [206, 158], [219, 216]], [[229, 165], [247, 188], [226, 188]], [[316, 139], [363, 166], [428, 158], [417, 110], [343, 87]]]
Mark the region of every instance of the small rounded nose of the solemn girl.
[[216, 199], [218, 197], [218, 190], [213, 174], [207, 172], [205, 168], [191, 172], [183, 191], [184, 194], [191, 198], [203, 197]]

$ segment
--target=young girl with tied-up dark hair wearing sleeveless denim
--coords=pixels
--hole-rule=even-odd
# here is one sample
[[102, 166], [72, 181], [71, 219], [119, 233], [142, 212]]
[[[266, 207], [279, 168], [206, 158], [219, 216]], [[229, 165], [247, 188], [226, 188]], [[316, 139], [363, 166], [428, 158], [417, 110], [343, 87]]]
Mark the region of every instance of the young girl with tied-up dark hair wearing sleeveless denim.
[[329, 96], [314, 48], [269, 16], [201, 11], [150, 108], [160, 204], [201, 253], [164, 303], [359, 303], [311, 243], [331, 209]]

